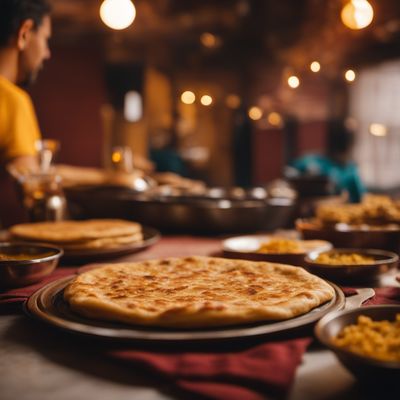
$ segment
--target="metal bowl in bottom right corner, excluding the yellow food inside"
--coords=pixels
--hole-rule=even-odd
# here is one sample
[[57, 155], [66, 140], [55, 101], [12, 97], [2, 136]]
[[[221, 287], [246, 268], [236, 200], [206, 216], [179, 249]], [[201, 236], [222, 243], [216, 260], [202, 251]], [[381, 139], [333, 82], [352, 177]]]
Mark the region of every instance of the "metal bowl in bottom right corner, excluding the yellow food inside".
[[336, 346], [333, 339], [345, 326], [357, 323], [359, 315], [368, 316], [376, 321], [394, 321], [399, 313], [400, 305], [369, 306], [329, 313], [315, 326], [315, 335], [357, 378], [394, 383], [400, 377], [400, 361], [381, 361], [358, 355]]

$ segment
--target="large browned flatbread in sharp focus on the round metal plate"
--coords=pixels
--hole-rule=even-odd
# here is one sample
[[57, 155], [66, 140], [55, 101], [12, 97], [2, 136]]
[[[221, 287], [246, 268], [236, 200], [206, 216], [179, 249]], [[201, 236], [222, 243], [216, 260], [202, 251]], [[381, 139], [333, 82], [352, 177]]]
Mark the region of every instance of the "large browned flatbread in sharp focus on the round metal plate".
[[105, 265], [64, 292], [89, 318], [182, 328], [284, 320], [333, 297], [328, 283], [300, 267], [212, 257]]

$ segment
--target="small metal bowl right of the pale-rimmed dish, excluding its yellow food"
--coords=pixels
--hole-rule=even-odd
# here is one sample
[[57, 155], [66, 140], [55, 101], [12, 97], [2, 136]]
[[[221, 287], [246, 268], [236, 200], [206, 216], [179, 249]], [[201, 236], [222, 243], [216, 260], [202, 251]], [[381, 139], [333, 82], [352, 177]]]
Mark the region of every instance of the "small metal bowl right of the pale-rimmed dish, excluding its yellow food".
[[332, 249], [326, 253], [360, 254], [372, 257], [371, 264], [323, 264], [317, 262], [320, 251], [313, 251], [305, 257], [305, 268], [312, 274], [336, 283], [367, 283], [377, 280], [382, 274], [397, 267], [399, 256], [396, 253], [376, 249]]

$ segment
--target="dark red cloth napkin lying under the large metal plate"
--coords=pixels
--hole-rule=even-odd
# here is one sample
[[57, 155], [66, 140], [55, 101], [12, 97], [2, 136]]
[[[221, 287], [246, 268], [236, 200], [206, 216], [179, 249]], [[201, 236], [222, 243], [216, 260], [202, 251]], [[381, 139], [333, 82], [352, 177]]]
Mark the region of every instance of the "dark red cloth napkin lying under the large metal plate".
[[[39, 287], [76, 272], [57, 268], [45, 281], [0, 293], [0, 311], [7, 304], [21, 305]], [[355, 293], [347, 288], [347, 295]], [[366, 304], [400, 303], [400, 288], [376, 289]], [[261, 400], [284, 397], [290, 390], [297, 366], [311, 343], [311, 337], [280, 342], [223, 346], [219, 350], [144, 351], [125, 346], [119, 350], [102, 348], [107, 356], [135, 367], [155, 372], [178, 388], [209, 399]]]

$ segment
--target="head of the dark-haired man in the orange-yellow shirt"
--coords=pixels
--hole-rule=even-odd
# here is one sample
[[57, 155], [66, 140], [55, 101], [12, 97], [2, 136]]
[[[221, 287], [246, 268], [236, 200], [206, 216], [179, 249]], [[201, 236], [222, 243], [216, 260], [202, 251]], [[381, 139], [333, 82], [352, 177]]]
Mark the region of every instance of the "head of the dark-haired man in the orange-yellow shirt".
[[50, 57], [50, 5], [47, 0], [0, 0], [0, 50], [18, 51], [17, 83], [35, 80]]

